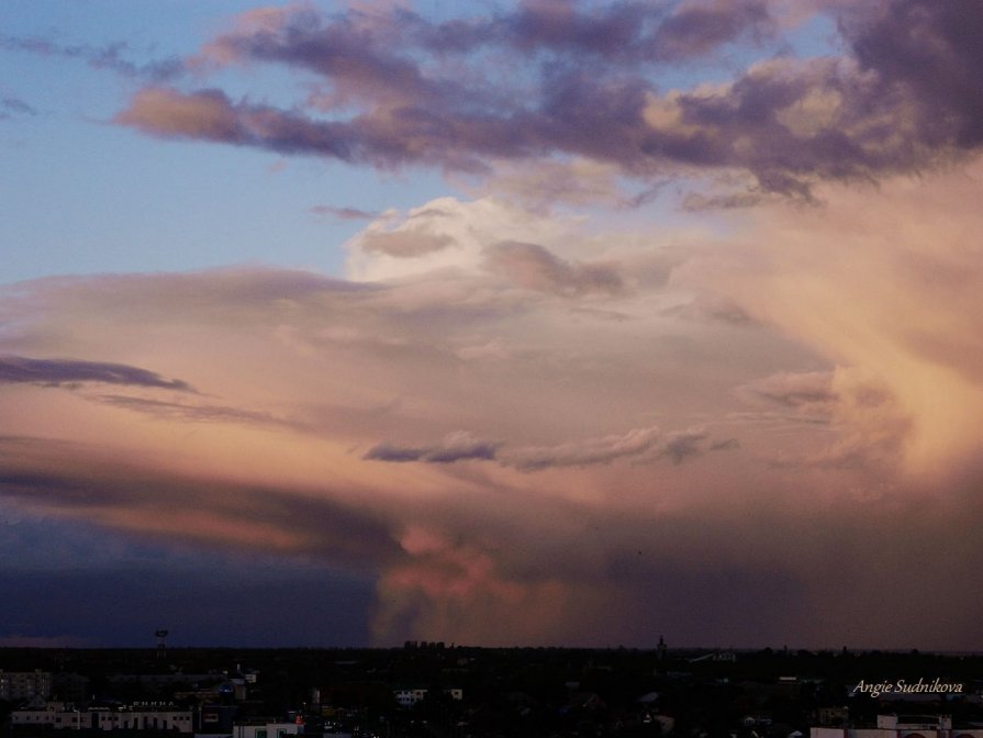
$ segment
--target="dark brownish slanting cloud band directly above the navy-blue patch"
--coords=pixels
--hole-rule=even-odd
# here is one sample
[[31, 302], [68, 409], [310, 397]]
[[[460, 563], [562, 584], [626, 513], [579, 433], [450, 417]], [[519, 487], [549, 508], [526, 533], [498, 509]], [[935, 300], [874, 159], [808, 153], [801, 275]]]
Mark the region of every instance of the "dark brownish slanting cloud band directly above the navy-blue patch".
[[327, 495], [183, 477], [42, 438], [0, 438], [0, 496], [160, 540], [238, 549], [260, 537], [354, 570], [400, 556], [388, 523]]

